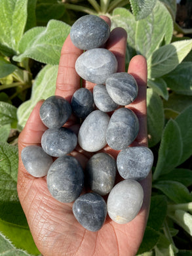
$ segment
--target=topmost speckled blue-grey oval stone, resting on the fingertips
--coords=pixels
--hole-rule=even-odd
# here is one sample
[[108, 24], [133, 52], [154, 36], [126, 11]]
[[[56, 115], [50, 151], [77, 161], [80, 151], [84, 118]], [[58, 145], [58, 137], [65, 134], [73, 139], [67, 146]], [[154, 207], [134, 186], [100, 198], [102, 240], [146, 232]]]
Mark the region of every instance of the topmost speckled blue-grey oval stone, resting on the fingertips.
[[70, 37], [73, 45], [82, 50], [99, 48], [110, 35], [107, 22], [95, 15], [85, 15], [71, 26]]

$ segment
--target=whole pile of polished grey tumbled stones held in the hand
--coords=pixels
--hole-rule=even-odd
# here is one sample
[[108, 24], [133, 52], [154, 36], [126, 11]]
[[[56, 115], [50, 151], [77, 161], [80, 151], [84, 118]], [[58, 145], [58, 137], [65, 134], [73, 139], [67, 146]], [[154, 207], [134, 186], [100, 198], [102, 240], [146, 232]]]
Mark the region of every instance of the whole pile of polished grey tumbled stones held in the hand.
[[[110, 29], [102, 18], [86, 15], [71, 27], [71, 41], [86, 50], [75, 70], [86, 81], [95, 83], [93, 93], [80, 88], [71, 104], [61, 96], [43, 102], [40, 117], [48, 127], [41, 146], [22, 150], [26, 170], [34, 177], [47, 175], [50, 194], [63, 203], [73, 203], [73, 214], [87, 230], [102, 228], [108, 213], [119, 224], [128, 223], [140, 211], [144, 192], [138, 181], [145, 179], [153, 164], [153, 154], [144, 146], [128, 147], [139, 131], [138, 117], [125, 108], [136, 99], [138, 85], [132, 75], [117, 73], [117, 59], [99, 48], [109, 38]], [[111, 117], [107, 112], [113, 112]], [[71, 114], [81, 120], [78, 136], [63, 127]], [[83, 122], [82, 122], [83, 120]], [[77, 143], [87, 152], [96, 152], [85, 170], [70, 153]], [[120, 150], [117, 161], [102, 150], [104, 146]], [[52, 157], [56, 157], [55, 161]], [[115, 186], [117, 170], [123, 181]], [[81, 194], [83, 187], [91, 192]], [[102, 196], [107, 194], [107, 203]]]

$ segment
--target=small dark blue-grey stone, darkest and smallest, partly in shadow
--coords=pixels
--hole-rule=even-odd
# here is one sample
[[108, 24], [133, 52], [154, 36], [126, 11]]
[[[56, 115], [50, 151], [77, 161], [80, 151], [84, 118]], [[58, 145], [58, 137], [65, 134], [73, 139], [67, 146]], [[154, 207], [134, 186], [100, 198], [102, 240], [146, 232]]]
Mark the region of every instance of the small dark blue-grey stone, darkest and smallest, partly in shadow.
[[71, 108], [75, 116], [85, 119], [94, 110], [92, 93], [86, 88], [80, 88], [71, 98]]

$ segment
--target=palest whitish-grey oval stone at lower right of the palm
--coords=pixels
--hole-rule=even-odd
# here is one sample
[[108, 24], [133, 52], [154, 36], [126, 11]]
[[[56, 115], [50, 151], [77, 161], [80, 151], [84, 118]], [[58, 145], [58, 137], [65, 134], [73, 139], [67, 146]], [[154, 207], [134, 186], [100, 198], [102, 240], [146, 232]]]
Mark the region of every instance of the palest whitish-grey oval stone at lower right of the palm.
[[138, 215], [144, 199], [139, 182], [127, 179], [115, 185], [107, 198], [107, 213], [115, 223], [125, 224]]

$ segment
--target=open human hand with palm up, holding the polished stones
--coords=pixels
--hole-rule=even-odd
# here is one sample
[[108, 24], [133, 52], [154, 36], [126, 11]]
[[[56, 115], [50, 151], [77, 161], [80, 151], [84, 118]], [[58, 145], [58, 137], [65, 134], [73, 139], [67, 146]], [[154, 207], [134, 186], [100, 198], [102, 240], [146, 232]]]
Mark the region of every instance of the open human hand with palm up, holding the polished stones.
[[[108, 24], [109, 18], [102, 16]], [[111, 32], [106, 49], [113, 52], [118, 61], [118, 71], [125, 72], [126, 32], [115, 28]], [[75, 60], [82, 53], [68, 36], [60, 57], [56, 95], [71, 100], [73, 93], [80, 87], [80, 77], [75, 72]], [[147, 64], [143, 56], [134, 56], [130, 61], [128, 73], [132, 74], [139, 87], [136, 100], [126, 106], [132, 109], [140, 121], [140, 131], [130, 146], [147, 146], [146, 122], [146, 84]], [[83, 81], [83, 86], [92, 90], [94, 84]], [[41, 136], [47, 129], [39, 117], [43, 100], [37, 103], [18, 140], [19, 156], [22, 148], [29, 145], [41, 145]], [[66, 123], [73, 131], [79, 125], [75, 117]], [[102, 152], [114, 158], [118, 152], [106, 146]], [[71, 153], [85, 167], [92, 154], [83, 151], [79, 146]], [[119, 181], [119, 177], [117, 177]], [[106, 223], [98, 232], [85, 230], [72, 213], [73, 203], [60, 203], [48, 192], [46, 177], [34, 178], [26, 171], [19, 157], [18, 196], [28, 219], [31, 234], [39, 251], [44, 256], [133, 256], [136, 255], [144, 236], [149, 213], [151, 197], [151, 173], [140, 182], [144, 189], [144, 203], [135, 219], [127, 224], [117, 224], [107, 216]]]

